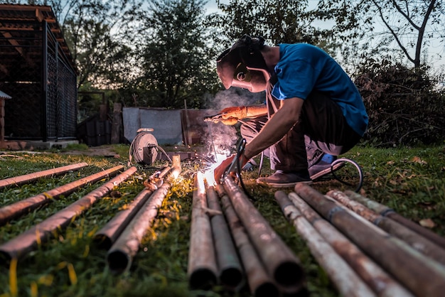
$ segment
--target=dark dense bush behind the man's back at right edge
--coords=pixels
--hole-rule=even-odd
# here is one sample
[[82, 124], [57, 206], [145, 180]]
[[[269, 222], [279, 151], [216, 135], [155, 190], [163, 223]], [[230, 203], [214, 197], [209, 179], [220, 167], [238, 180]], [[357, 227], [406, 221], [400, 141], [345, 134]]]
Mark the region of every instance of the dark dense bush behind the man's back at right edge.
[[370, 117], [366, 142], [397, 146], [445, 141], [444, 91], [426, 70], [371, 60], [359, 73], [355, 85]]

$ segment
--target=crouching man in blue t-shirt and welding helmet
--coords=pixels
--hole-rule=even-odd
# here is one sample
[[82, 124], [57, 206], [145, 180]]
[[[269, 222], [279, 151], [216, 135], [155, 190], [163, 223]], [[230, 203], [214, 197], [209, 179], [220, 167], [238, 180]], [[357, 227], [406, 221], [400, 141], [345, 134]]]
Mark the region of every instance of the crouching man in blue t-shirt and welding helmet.
[[[264, 151], [272, 175], [257, 179], [274, 187], [310, 183], [341, 166], [331, 163], [358, 143], [368, 126], [363, 99], [328, 53], [306, 43], [277, 46], [242, 36], [217, 59], [225, 89], [266, 93], [264, 105], [227, 107], [220, 121], [240, 126], [246, 139], [241, 166]], [[220, 180], [235, 155], [215, 169]]]

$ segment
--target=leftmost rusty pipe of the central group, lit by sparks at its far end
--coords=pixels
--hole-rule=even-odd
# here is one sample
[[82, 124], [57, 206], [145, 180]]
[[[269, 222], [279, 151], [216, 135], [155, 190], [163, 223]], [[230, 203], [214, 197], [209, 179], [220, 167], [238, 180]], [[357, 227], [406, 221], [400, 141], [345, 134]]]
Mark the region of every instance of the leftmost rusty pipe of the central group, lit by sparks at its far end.
[[210, 288], [217, 283], [218, 267], [210, 220], [206, 213], [203, 173], [193, 181], [192, 220], [188, 249], [188, 284], [191, 288]]

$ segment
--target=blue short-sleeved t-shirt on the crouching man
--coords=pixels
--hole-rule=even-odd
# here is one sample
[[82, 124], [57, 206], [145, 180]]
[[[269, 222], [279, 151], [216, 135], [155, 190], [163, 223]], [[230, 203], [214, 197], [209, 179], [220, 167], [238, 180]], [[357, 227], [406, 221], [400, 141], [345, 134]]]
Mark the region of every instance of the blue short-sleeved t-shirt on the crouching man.
[[341, 107], [349, 126], [360, 136], [368, 126], [363, 99], [350, 77], [330, 55], [306, 43], [280, 44], [275, 66], [277, 99], [306, 99], [313, 91], [323, 92]]

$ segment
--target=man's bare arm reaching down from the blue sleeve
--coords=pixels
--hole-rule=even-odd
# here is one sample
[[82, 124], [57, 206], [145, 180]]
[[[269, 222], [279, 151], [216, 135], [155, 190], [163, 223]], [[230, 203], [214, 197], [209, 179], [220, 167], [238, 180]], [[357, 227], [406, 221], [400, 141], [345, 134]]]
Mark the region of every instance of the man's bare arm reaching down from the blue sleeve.
[[245, 147], [244, 155], [248, 159], [257, 156], [264, 149], [277, 143], [300, 119], [301, 108], [304, 100], [301, 98], [289, 98], [282, 102], [282, 106], [267, 121], [263, 129]]

